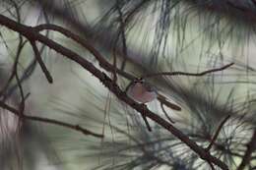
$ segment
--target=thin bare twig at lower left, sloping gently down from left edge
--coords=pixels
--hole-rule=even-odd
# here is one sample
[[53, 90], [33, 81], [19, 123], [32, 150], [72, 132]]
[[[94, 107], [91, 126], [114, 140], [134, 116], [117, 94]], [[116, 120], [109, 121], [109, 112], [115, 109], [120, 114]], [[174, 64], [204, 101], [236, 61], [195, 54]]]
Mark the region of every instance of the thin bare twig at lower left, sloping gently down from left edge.
[[11, 113], [15, 114], [16, 116], [19, 116], [19, 118], [22, 119], [26, 119], [26, 120], [32, 120], [32, 121], [37, 121], [37, 122], [42, 122], [42, 123], [47, 123], [47, 124], [52, 124], [52, 125], [58, 125], [61, 127], [65, 127], [65, 128], [69, 128], [75, 131], [79, 131], [85, 135], [91, 135], [94, 136], [96, 138], [103, 138], [102, 135], [93, 133], [87, 129], [82, 128], [79, 125], [72, 125], [69, 123], [65, 123], [65, 122], [61, 122], [58, 120], [54, 120], [54, 119], [48, 119], [48, 118], [42, 118], [42, 117], [36, 117], [36, 116], [28, 116], [25, 114], [21, 114], [19, 110], [17, 110], [16, 108], [9, 106], [8, 104], [4, 103], [3, 101], [0, 101], [0, 107], [2, 107], [3, 109], [6, 109], [8, 111], [10, 111]]

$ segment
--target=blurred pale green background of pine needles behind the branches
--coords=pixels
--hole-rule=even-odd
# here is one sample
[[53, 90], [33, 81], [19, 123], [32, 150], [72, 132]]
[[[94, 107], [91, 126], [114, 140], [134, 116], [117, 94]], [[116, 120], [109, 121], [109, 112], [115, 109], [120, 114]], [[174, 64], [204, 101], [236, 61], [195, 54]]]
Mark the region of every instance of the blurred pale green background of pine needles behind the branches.
[[[135, 77], [172, 71], [199, 73], [234, 62], [222, 72], [203, 77], [147, 79], [182, 111], [162, 108], [158, 100], [147, 105], [166, 120], [167, 114], [176, 128], [201, 146], [211, 142], [220, 123], [230, 115], [211, 153], [230, 169], [256, 169], [256, 142], [252, 138], [256, 114], [255, 1], [2, 0], [0, 14], [27, 26], [67, 28], [90, 41], [110, 63], [116, 56], [117, 67]], [[52, 30], [41, 33], [99, 68], [96, 58], [72, 39]], [[25, 37], [1, 26], [0, 42], [1, 89], [20, 55], [19, 76], [25, 93], [30, 93], [27, 113], [78, 124], [105, 136], [97, 139], [32, 121], [20, 125], [2, 109], [0, 169], [211, 169], [154, 122], [150, 122], [153, 132], [148, 132], [140, 114], [78, 64], [36, 43], [53, 77], [50, 85]], [[21, 42], [25, 45], [19, 51]], [[117, 83], [125, 89], [130, 80], [118, 76]], [[1, 98], [10, 103], [20, 100], [15, 81]], [[248, 143], [252, 143], [251, 156], [241, 167]]]

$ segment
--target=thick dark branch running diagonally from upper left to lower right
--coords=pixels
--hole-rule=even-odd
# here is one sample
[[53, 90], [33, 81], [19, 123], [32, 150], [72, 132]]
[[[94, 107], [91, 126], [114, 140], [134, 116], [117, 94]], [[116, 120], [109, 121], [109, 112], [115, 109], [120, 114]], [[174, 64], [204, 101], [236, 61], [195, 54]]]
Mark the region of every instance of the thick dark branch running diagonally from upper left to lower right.
[[54, 42], [53, 40], [45, 37], [42, 34], [39, 34], [34, 28], [26, 27], [24, 25], [18, 24], [15, 21], [8, 19], [5, 16], [0, 15], [0, 24], [18, 31], [29, 39], [37, 40], [49, 48], [54, 49], [56, 52], [59, 52], [63, 55], [63, 57], [69, 58], [70, 60], [78, 63], [83, 68], [92, 73], [103, 85], [105, 85], [110, 91], [112, 91], [118, 99], [124, 101], [126, 104], [130, 105], [132, 108], [137, 110], [140, 113], [143, 113], [146, 117], [153, 120], [157, 124], [159, 124], [162, 128], [169, 131], [172, 135], [178, 138], [180, 141], [184, 142], [188, 145], [192, 150], [194, 150], [202, 159], [206, 161], [210, 161], [224, 170], [227, 170], [228, 167], [224, 164], [223, 161], [211, 155], [209, 152], [200, 147], [196, 142], [191, 141], [187, 136], [185, 136], [178, 129], [173, 127], [167, 121], [162, 119], [159, 115], [155, 114], [151, 110], [149, 110], [145, 105], [139, 104], [132, 100], [130, 97], [123, 92], [118, 85], [113, 83], [113, 81], [103, 72], [98, 70], [92, 63], [79, 56], [77, 53], [72, 50], [61, 46], [60, 44]]

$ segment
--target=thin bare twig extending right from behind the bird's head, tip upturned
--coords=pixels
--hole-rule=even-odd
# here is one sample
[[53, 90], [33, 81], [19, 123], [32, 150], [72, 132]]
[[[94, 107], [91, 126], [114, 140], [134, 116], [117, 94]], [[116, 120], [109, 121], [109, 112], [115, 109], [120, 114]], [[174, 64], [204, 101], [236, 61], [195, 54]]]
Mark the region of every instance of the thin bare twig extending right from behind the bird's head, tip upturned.
[[217, 68], [217, 69], [212, 69], [212, 70], [207, 70], [201, 73], [185, 73], [185, 72], [160, 72], [160, 73], [153, 73], [153, 74], [148, 74], [148, 75], [144, 75], [143, 77], [141, 77], [142, 79], [145, 78], [152, 78], [152, 77], [158, 77], [158, 76], [193, 76], [193, 77], [201, 77], [204, 75], [207, 75], [209, 73], [214, 73], [214, 72], [219, 72], [219, 71], [223, 71], [224, 69], [232, 66], [234, 63], [230, 63], [227, 65], [224, 65], [221, 68]]

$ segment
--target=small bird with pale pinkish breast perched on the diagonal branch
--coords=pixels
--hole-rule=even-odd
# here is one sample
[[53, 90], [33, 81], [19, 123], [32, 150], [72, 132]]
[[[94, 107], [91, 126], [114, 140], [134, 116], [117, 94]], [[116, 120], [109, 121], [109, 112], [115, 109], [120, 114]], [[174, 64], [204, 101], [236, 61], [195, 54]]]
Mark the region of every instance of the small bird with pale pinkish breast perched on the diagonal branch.
[[136, 79], [126, 87], [126, 93], [129, 97], [139, 103], [148, 103], [155, 99], [159, 99], [160, 103], [166, 105], [170, 109], [180, 111], [181, 107], [171, 103], [167, 98], [158, 92], [158, 89], [146, 82], [144, 79]]

